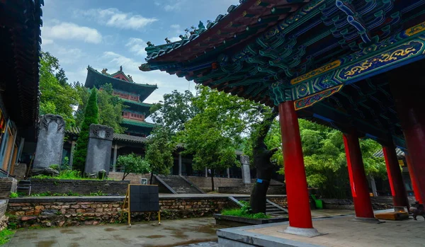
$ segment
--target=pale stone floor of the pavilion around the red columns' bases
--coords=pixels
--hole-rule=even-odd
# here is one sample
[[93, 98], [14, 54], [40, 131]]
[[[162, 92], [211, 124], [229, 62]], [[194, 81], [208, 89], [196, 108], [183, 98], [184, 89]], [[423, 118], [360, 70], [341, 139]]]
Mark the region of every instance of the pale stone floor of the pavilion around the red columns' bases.
[[422, 217], [418, 217], [418, 221], [414, 221], [411, 217], [411, 219], [397, 222], [388, 220], [382, 224], [351, 222], [348, 219], [352, 219], [352, 217], [315, 220], [313, 222], [314, 228], [324, 235], [314, 238], [278, 232], [283, 231], [288, 226], [286, 224], [257, 229], [245, 229], [244, 231], [329, 247], [425, 246], [425, 222]]

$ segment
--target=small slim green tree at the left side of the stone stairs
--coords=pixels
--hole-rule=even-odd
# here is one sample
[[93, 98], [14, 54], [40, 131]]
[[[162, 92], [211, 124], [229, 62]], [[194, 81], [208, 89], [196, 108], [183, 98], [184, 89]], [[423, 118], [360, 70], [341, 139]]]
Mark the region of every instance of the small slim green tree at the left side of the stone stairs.
[[154, 174], [168, 175], [174, 165], [173, 151], [175, 144], [166, 127], [155, 127], [149, 136], [145, 159], [151, 170], [150, 184]]

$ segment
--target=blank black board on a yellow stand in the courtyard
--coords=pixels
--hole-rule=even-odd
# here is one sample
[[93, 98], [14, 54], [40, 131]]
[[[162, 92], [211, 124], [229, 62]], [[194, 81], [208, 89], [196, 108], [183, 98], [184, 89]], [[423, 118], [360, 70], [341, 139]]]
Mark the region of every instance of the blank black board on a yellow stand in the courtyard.
[[[157, 185], [128, 185], [125, 194], [120, 220], [127, 212], [128, 227], [131, 227], [132, 212], [158, 212], [158, 225], [161, 225], [161, 210], [159, 210], [159, 191]], [[152, 224], [154, 225], [154, 224]]]

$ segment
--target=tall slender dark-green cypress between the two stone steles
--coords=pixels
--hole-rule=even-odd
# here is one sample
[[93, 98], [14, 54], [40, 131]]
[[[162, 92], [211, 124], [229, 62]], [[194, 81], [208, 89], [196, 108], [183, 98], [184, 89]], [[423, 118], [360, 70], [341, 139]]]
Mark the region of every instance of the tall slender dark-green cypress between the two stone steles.
[[81, 125], [77, 147], [74, 151], [74, 162], [72, 168], [84, 173], [86, 165], [87, 145], [89, 144], [89, 132], [91, 124], [98, 124], [99, 109], [97, 104], [97, 89], [91, 89], [89, 100], [84, 109], [84, 120]]

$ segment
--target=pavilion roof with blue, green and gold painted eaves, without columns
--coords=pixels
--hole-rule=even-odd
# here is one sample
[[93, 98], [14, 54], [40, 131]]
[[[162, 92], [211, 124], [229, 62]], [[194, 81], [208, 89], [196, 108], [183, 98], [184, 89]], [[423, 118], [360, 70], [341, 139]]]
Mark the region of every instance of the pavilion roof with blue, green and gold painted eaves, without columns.
[[385, 72], [425, 58], [425, 0], [240, 1], [182, 40], [146, 48], [161, 70], [369, 136], [402, 134]]

